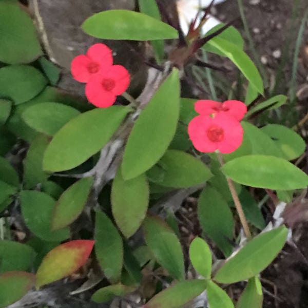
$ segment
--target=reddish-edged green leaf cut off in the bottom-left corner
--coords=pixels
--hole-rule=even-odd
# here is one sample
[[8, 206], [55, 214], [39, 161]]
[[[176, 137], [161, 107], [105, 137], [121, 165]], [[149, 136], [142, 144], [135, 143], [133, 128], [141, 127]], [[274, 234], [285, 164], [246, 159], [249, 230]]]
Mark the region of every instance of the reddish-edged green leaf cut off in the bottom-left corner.
[[34, 274], [13, 271], [0, 275], [0, 308], [21, 299], [34, 284]]

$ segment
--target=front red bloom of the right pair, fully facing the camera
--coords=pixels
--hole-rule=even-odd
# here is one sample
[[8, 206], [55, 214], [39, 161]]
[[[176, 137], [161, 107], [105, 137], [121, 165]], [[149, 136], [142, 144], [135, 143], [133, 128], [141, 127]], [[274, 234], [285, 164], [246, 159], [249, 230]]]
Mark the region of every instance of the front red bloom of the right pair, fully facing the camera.
[[200, 152], [221, 153], [235, 151], [243, 141], [243, 128], [237, 120], [225, 113], [218, 113], [215, 118], [198, 115], [188, 125], [189, 138]]

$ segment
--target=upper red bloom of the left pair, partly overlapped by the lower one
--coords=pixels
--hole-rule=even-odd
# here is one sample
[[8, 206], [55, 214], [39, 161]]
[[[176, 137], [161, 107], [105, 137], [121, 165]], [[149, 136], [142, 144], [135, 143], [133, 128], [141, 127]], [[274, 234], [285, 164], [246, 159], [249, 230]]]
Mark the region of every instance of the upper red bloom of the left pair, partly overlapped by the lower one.
[[76, 56], [71, 63], [71, 72], [76, 81], [87, 83], [91, 76], [99, 74], [113, 63], [112, 50], [105, 44], [92, 45], [87, 54]]

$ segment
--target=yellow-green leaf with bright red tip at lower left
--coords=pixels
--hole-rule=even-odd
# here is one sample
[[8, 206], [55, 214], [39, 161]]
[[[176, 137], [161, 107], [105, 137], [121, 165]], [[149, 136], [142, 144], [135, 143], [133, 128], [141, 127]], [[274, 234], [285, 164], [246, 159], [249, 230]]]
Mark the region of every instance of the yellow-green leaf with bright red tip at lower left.
[[88, 260], [94, 241], [75, 240], [59, 245], [43, 259], [36, 273], [36, 287], [62, 279], [80, 268]]

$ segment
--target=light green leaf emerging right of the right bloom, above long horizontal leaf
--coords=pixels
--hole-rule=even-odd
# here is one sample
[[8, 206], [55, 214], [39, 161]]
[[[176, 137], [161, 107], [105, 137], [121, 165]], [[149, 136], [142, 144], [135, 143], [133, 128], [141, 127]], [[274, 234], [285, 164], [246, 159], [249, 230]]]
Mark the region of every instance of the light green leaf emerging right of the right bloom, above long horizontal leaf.
[[244, 121], [242, 121], [242, 126], [244, 134], [250, 141], [252, 154], [283, 157], [280, 148], [260, 128]]

